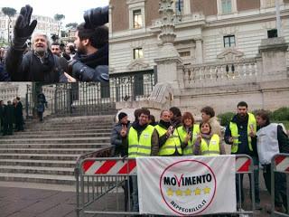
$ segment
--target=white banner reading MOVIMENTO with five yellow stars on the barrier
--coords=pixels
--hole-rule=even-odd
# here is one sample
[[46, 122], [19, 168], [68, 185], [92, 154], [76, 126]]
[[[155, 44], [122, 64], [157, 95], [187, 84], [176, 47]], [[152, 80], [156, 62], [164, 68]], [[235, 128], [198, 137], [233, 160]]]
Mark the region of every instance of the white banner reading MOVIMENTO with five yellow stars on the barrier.
[[139, 212], [236, 212], [235, 156], [136, 158]]

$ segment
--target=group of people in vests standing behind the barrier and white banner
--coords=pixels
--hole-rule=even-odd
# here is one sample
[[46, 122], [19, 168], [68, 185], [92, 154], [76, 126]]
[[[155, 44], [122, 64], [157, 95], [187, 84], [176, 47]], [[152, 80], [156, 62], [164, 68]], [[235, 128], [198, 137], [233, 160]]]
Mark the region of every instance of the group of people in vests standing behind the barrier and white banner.
[[[200, 124], [194, 121], [191, 112], [182, 114], [176, 107], [163, 110], [158, 123], [150, 118], [148, 109], [136, 109], [133, 123], [121, 112], [112, 130], [111, 144], [115, 146], [115, 156], [219, 156], [226, 154], [224, 140], [231, 146], [231, 155], [245, 154], [253, 158], [256, 209], [260, 210], [259, 164], [264, 167], [266, 188], [271, 193], [271, 158], [278, 153], [289, 153], [288, 136], [281, 126], [270, 123], [265, 110], [258, 111], [255, 117], [247, 111], [245, 101], [240, 101], [237, 109], [224, 136], [211, 107], [200, 110]], [[238, 204], [245, 199], [242, 180], [238, 186], [237, 176]], [[132, 211], [138, 212], [137, 177], [132, 176], [131, 181]], [[275, 208], [284, 211], [287, 204], [284, 175], [275, 175], [275, 186]], [[239, 188], [242, 195], [238, 195]]]

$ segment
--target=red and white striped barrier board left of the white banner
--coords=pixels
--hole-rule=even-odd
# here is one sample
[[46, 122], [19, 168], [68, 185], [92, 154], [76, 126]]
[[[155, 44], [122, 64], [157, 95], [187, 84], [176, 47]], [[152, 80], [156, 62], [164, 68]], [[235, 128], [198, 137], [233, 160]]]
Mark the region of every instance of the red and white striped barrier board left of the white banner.
[[136, 173], [136, 162], [131, 160], [86, 160], [82, 164], [84, 175], [127, 175]]

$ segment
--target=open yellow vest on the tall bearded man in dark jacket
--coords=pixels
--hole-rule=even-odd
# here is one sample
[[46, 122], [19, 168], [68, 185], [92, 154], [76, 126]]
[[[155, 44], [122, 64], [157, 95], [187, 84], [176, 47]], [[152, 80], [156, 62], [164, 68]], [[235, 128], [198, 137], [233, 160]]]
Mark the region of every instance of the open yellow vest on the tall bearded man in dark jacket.
[[[247, 142], [248, 142], [248, 146], [249, 146], [250, 151], [253, 151], [252, 141], [251, 141], [252, 139], [248, 135], [251, 131], [251, 126], [253, 127], [254, 133], [256, 133], [256, 118], [251, 113], [247, 113], [247, 114], [249, 116], [249, 118], [247, 120]], [[238, 126], [236, 123], [229, 122], [229, 129], [231, 131], [231, 136], [233, 137], [233, 145], [231, 147], [231, 153], [237, 153], [238, 152], [238, 144], [241, 143], [238, 141], [238, 137], [240, 136], [238, 134]]]

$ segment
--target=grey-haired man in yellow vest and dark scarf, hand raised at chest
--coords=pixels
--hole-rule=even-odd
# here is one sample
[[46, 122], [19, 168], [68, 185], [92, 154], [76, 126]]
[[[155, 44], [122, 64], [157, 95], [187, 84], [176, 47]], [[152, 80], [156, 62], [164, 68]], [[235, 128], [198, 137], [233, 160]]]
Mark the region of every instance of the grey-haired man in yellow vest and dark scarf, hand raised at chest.
[[178, 131], [171, 125], [170, 111], [161, 112], [160, 123], [154, 126], [159, 137], [159, 156], [182, 156]]

